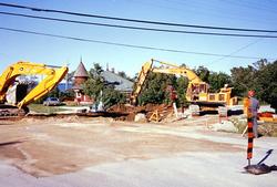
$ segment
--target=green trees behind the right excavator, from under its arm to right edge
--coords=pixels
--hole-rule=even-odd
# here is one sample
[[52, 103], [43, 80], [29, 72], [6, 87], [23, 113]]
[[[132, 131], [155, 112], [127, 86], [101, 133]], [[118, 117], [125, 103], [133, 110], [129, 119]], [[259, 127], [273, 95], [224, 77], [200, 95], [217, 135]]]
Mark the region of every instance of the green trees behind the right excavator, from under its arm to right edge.
[[[261, 59], [246, 67], [233, 67], [230, 74], [214, 72], [205, 66], [195, 67], [193, 71], [202, 81], [209, 84], [209, 92], [219, 92], [220, 87], [228, 84], [234, 87], [234, 95], [242, 100], [247, 96], [249, 90], [254, 90], [261, 103], [277, 108], [277, 61], [268, 62]], [[177, 104], [186, 104], [185, 93], [188, 80], [183, 76], [157, 73], [150, 74], [144, 91], [138, 96], [138, 103], [168, 103], [167, 85], [176, 90]]]

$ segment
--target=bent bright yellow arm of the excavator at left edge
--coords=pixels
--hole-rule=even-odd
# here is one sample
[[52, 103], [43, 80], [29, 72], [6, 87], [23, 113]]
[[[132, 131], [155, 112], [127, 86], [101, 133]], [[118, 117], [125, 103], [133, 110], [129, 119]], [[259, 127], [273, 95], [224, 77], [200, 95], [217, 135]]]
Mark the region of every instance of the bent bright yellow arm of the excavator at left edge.
[[57, 67], [31, 62], [14, 63], [0, 76], [0, 101], [4, 101], [8, 89], [19, 75], [44, 75], [44, 79], [17, 104], [19, 108], [22, 108], [52, 91], [66, 73], [66, 66]]

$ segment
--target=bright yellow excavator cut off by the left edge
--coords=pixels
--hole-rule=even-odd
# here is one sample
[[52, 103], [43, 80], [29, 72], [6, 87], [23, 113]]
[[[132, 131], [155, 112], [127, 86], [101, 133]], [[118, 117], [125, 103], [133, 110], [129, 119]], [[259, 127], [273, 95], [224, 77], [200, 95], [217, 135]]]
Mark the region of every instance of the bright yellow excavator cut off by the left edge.
[[[0, 75], [0, 115], [28, 113], [27, 105], [52, 91], [66, 73], [66, 66], [50, 66], [32, 62], [18, 62], [8, 66]], [[27, 86], [22, 86], [17, 80], [22, 75], [42, 75], [43, 80], [28, 92]]]

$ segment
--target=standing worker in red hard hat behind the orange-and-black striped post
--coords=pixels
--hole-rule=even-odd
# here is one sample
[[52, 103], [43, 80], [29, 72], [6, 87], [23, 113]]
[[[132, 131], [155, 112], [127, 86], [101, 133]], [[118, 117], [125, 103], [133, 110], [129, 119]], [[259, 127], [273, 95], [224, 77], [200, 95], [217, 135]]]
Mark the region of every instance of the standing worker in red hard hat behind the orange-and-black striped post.
[[254, 136], [257, 138], [258, 137], [258, 121], [257, 121], [257, 116], [258, 116], [258, 108], [259, 108], [259, 102], [257, 98], [254, 97], [255, 96], [255, 91], [248, 91], [248, 97], [250, 101], [250, 112], [252, 112], [252, 117], [253, 117], [253, 133]]

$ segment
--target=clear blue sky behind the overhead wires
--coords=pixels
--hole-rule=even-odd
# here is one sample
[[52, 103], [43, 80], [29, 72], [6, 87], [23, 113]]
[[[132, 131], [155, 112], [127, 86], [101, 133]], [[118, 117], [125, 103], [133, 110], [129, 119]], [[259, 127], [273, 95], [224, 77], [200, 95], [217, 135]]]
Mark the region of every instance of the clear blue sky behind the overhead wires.
[[[275, 0], [0, 0], [0, 2], [162, 22], [277, 30], [277, 1]], [[134, 25], [127, 22], [34, 12], [7, 7], [0, 7], [0, 11]], [[277, 39], [135, 31], [2, 14], [0, 14], [0, 23], [1, 27], [6, 28], [204, 53], [230, 54], [245, 48], [234, 53], [234, 55], [277, 59]], [[186, 30], [203, 31], [196, 29]], [[0, 30], [0, 42], [1, 72], [9, 64], [18, 61], [40, 62], [51, 65], [69, 64], [70, 71], [73, 71], [76, 69], [81, 56], [86, 69], [92, 67], [94, 62], [100, 63], [104, 69], [109, 63], [110, 67], [114, 67], [115, 71], [125, 71], [130, 76], [134, 76], [140, 71], [141, 65], [152, 58], [176, 64], [185, 63], [189, 67], [205, 65], [211, 71], [226, 73], [229, 73], [233, 66], [246, 66], [256, 61], [254, 59], [222, 59], [199, 54], [132, 49], [3, 30]]]

